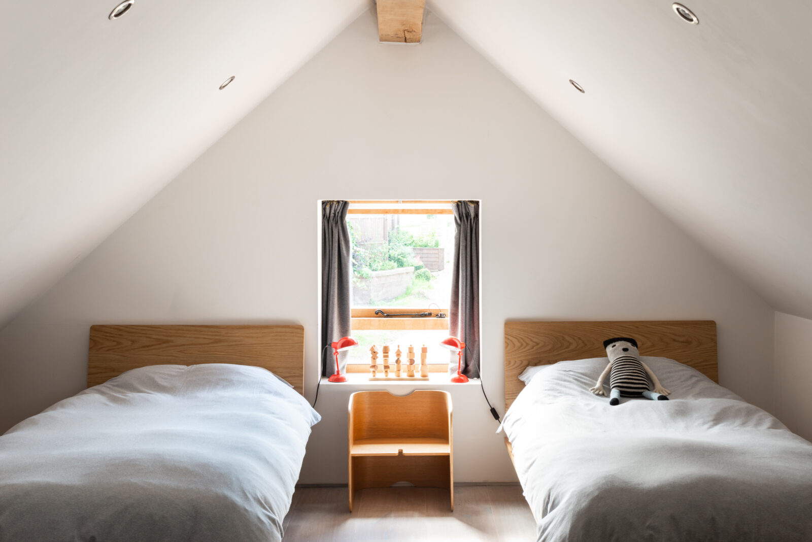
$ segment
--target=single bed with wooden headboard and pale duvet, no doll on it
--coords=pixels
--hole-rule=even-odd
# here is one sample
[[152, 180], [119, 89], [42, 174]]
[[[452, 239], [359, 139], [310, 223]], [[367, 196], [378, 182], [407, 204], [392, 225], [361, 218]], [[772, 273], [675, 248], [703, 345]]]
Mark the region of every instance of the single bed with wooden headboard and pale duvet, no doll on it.
[[88, 384], [0, 437], [0, 540], [282, 539], [300, 325], [94, 325]]

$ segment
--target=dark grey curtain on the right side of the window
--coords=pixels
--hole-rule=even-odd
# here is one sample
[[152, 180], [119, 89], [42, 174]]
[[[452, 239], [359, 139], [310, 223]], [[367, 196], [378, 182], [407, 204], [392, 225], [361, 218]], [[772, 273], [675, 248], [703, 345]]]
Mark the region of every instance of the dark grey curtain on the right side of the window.
[[[462, 373], [479, 378], [479, 202], [455, 201], [454, 270], [451, 275], [449, 331], [468, 350], [463, 352]], [[456, 373], [456, 355], [448, 372]]]

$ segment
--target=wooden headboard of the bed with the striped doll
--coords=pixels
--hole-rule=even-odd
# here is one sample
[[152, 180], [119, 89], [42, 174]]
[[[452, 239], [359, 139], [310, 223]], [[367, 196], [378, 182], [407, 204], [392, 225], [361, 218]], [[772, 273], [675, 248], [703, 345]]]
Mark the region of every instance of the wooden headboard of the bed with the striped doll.
[[526, 367], [605, 357], [603, 341], [613, 337], [634, 338], [641, 355], [676, 359], [719, 382], [713, 320], [505, 322], [505, 411], [525, 387]]

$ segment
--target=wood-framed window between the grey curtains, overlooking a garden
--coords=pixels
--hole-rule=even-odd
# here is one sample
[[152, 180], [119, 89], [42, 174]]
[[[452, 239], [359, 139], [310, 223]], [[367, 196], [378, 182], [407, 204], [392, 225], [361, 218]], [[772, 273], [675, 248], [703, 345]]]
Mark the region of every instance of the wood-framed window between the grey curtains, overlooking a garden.
[[[351, 201], [352, 336], [365, 348], [349, 351], [348, 371], [369, 370], [369, 346], [390, 346], [390, 363], [414, 346], [428, 347], [430, 370], [445, 371], [454, 214], [451, 201]], [[404, 315], [404, 316], [400, 316]], [[418, 315], [418, 316], [415, 316]], [[382, 355], [378, 355], [381, 363]], [[354, 367], [352, 367], [354, 365]], [[432, 367], [434, 365], [434, 367]]]

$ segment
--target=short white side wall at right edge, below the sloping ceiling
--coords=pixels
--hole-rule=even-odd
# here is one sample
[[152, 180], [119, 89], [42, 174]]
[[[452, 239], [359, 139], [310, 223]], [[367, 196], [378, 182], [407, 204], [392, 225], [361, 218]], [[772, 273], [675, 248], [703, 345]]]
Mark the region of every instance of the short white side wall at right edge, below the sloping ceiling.
[[775, 312], [775, 413], [812, 441], [812, 320]]

